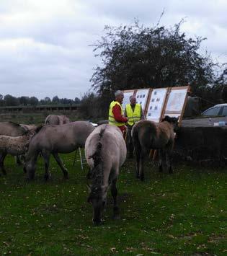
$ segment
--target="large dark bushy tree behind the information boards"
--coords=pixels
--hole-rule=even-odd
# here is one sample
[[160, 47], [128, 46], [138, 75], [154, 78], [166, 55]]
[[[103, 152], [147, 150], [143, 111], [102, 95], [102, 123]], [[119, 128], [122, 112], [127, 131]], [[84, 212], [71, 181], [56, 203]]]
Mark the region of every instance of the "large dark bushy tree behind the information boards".
[[200, 45], [206, 38], [187, 38], [180, 31], [182, 22], [170, 29], [159, 24], [143, 27], [137, 21], [130, 26], [104, 28], [105, 35], [93, 45], [102, 65], [91, 79], [104, 109], [117, 89], [187, 84], [195, 95], [203, 97], [207, 93], [208, 100], [217, 102], [214, 93], [223, 85], [221, 70], [225, 65], [214, 63], [208, 53], [202, 55]]

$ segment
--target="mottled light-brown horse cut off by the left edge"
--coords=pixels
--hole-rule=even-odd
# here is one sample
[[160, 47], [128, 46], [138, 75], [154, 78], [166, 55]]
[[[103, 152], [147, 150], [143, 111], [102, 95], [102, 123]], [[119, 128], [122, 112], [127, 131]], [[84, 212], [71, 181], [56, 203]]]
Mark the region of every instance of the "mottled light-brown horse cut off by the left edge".
[[37, 131], [38, 128], [34, 128], [26, 131], [22, 136], [0, 136], [0, 168], [4, 175], [6, 175], [6, 170], [4, 169], [6, 154], [11, 154], [12, 156], [25, 154], [28, 144], [30, 143], [30, 138], [32, 138]]

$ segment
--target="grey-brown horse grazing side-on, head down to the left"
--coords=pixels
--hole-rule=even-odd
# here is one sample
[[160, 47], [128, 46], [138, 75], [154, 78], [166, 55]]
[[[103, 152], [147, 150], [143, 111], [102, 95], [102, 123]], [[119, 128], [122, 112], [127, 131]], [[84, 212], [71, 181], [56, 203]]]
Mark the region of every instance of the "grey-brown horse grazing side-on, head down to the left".
[[32, 137], [26, 154], [24, 171], [27, 172], [27, 180], [35, 176], [37, 156], [41, 153], [45, 163], [45, 180], [50, 177], [48, 171], [50, 154], [68, 178], [68, 171], [63, 166], [58, 153], [70, 153], [79, 147], [84, 147], [86, 138], [94, 130], [94, 126], [86, 121], [76, 121], [64, 125], [44, 125], [43, 128]]

